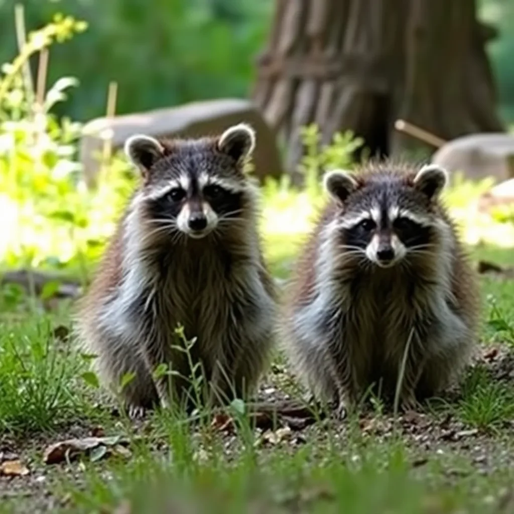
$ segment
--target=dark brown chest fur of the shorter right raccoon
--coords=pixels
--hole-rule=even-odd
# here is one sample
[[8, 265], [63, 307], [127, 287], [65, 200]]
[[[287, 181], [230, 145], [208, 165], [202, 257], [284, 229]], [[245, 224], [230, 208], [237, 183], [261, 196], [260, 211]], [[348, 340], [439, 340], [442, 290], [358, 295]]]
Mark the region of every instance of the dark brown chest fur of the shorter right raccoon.
[[381, 381], [386, 389], [394, 389], [411, 331], [411, 344], [425, 353], [432, 351], [431, 340], [438, 339], [445, 302], [442, 288], [381, 270], [380, 276], [356, 280], [340, 296], [351, 298], [341, 309], [340, 344], [354, 356], [359, 386]]

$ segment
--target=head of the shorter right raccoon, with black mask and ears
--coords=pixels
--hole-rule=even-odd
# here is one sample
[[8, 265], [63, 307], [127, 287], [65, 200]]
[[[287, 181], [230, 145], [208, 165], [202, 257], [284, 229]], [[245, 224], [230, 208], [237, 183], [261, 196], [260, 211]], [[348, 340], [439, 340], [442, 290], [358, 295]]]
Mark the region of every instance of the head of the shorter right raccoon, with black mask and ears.
[[325, 190], [342, 207], [340, 247], [381, 268], [431, 252], [440, 226], [434, 200], [447, 182], [447, 172], [434, 165], [412, 177], [377, 173], [360, 181], [339, 170], [327, 173]]

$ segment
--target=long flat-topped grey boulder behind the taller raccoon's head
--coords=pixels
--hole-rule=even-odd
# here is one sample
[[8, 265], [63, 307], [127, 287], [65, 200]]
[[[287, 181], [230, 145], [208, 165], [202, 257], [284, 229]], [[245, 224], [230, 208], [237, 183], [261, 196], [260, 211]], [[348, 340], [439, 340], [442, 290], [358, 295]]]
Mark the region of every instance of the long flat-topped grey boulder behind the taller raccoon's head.
[[248, 100], [221, 99], [91, 120], [84, 126], [80, 143], [86, 181], [89, 185], [95, 181], [105, 139], [110, 138], [116, 150], [127, 137], [137, 133], [154, 137], [202, 137], [221, 134], [240, 122], [250, 123], [256, 132], [254, 175], [261, 180], [265, 176], [279, 177], [283, 168], [276, 137], [256, 106]]

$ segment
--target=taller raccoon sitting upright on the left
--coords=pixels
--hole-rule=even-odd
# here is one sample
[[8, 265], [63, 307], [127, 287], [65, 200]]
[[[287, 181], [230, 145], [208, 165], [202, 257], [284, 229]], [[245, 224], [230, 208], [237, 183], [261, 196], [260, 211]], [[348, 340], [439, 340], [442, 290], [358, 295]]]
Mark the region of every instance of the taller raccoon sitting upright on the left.
[[[125, 142], [141, 185], [79, 306], [77, 333], [106, 386], [133, 376], [121, 392], [131, 416], [189, 405], [191, 368], [201, 366], [214, 402], [246, 397], [265, 369], [277, 296], [258, 189], [243, 170], [254, 146], [245, 123], [219, 137]], [[189, 356], [177, 348], [179, 324], [195, 340]], [[154, 373], [163, 364], [171, 376]]]

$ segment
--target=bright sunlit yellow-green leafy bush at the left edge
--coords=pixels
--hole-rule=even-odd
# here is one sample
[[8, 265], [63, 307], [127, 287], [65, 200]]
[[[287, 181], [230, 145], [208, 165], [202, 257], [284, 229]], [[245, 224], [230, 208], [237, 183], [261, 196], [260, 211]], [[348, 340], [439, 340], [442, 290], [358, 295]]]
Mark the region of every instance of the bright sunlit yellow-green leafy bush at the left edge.
[[81, 125], [58, 119], [51, 109], [76, 85], [59, 79], [39, 104], [23, 79], [30, 56], [83, 31], [83, 22], [56, 16], [29, 35], [20, 55], [3, 67], [0, 81], [0, 258], [8, 266], [79, 265], [95, 256], [132, 186], [124, 160], [114, 158], [98, 189], [88, 190], [77, 160]]

